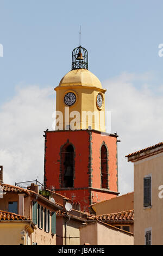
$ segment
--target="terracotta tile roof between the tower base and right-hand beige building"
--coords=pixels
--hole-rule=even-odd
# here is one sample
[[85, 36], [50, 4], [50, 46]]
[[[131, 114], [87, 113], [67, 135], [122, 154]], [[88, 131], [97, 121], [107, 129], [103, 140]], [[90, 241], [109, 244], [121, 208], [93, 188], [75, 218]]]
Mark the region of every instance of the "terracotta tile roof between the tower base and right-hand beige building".
[[[89, 217], [90, 218], [90, 217]], [[133, 222], [134, 221], [134, 210], [116, 212], [114, 214], [103, 214], [98, 216], [92, 216], [91, 220], [103, 221], [105, 223], [110, 222]]]

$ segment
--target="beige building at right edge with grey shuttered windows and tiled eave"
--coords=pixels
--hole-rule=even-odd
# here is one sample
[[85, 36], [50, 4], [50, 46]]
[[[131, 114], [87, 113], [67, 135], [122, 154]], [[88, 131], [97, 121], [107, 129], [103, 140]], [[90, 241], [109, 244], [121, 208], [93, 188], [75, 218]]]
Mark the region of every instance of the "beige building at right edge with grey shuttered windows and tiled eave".
[[163, 143], [126, 157], [134, 163], [134, 245], [163, 245]]

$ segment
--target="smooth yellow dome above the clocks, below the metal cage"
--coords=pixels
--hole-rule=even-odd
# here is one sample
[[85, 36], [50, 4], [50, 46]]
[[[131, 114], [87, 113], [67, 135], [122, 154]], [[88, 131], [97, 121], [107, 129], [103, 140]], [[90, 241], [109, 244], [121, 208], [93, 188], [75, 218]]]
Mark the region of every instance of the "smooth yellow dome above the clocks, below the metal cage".
[[68, 72], [60, 81], [60, 86], [90, 86], [102, 88], [99, 79], [87, 69], [74, 69]]

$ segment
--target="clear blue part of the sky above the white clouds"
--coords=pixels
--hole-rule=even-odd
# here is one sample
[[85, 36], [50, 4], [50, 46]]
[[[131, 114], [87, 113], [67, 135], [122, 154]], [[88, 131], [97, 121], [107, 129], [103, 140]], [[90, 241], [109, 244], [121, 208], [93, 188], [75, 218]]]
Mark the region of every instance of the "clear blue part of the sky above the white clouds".
[[[122, 71], [155, 72], [162, 79], [162, 1], [0, 1], [1, 102], [15, 86], [57, 86], [71, 69], [79, 44], [89, 51], [89, 69], [104, 81]], [[137, 85], [139, 86], [139, 84]]]

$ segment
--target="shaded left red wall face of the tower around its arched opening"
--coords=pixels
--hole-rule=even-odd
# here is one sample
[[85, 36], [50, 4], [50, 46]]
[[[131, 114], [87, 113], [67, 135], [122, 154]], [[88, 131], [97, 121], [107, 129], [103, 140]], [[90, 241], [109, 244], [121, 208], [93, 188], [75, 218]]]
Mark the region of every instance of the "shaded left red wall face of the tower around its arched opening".
[[46, 186], [59, 189], [60, 148], [67, 139], [74, 146], [74, 187], [89, 187], [87, 166], [89, 164], [89, 134], [86, 131], [60, 131], [46, 133], [45, 177]]

